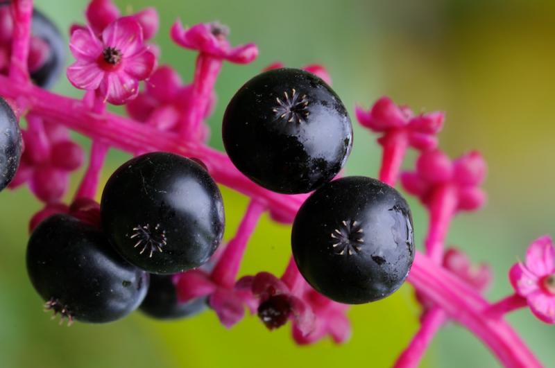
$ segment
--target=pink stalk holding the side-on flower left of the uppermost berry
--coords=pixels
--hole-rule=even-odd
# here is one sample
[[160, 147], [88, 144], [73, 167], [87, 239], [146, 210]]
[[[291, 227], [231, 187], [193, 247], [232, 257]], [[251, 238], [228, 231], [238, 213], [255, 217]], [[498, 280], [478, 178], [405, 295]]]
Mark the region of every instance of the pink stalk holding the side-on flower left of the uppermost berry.
[[198, 139], [200, 124], [210, 103], [222, 60], [206, 53], [198, 54], [193, 80], [193, 93], [180, 126], [180, 135], [187, 139]]

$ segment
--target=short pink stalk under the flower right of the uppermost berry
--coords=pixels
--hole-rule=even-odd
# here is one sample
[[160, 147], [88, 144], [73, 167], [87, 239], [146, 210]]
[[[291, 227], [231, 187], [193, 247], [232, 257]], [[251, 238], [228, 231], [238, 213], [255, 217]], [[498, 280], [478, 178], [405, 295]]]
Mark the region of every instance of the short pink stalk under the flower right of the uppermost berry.
[[379, 139], [379, 143], [384, 148], [382, 167], [379, 170], [379, 179], [386, 184], [395, 186], [404, 155], [407, 153], [407, 148], [409, 148], [407, 132], [404, 130], [387, 132]]

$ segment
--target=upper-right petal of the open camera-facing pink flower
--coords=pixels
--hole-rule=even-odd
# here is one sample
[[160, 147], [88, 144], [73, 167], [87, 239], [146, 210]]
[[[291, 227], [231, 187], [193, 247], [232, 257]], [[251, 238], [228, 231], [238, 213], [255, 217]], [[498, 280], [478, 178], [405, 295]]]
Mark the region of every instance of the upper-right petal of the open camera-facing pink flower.
[[130, 57], [141, 51], [143, 44], [143, 31], [139, 22], [134, 17], [121, 17], [106, 27], [102, 32], [104, 46], [110, 46]]

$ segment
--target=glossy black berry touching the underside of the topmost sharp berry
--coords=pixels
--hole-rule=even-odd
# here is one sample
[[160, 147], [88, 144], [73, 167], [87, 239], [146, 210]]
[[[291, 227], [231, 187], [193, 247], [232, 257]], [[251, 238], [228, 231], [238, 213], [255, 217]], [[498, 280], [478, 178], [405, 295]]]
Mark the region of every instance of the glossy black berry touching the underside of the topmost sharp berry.
[[414, 259], [411, 210], [379, 180], [337, 179], [302, 204], [291, 245], [302, 276], [326, 297], [382, 299], [400, 288]]

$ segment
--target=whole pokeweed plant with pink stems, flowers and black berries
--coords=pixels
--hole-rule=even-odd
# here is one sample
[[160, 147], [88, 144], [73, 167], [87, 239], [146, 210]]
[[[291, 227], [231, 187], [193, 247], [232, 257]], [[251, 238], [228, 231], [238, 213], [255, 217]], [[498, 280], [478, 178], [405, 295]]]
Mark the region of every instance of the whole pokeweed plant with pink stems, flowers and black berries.
[[[417, 366], [449, 321], [506, 367], [542, 366], [504, 315], [528, 306], [555, 323], [554, 244], [548, 236], [535, 240], [509, 272], [514, 294], [484, 299], [489, 269], [445, 249], [445, 238], [457, 213], [484, 204], [486, 163], [479, 152], [452, 160], [438, 150], [442, 112], [414, 114], [386, 97], [369, 110], [356, 107], [359, 123], [379, 136], [379, 181], [341, 177], [352, 128], [329, 74], [320, 65], [299, 71], [275, 63], [226, 111], [232, 162], [206, 145], [205, 119], [223, 62], [248, 64], [257, 47], [230, 45], [228, 28], [217, 22], [185, 28], [177, 21], [171, 39], [198, 53], [185, 84], [170, 66], [157, 66], [154, 8], [122, 16], [110, 0], [92, 0], [85, 15], [87, 24], [70, 30], [67, 78], [84, 91], [74, 99], [46, 89], [65, 60], [56, 27], [32, 0], [0, 6], [0, 184], [28, 184], [44, 202], [30, 221], [27, 266], [46, 309], [71, 323], [110, 322], [139, 307], [161, 319], [209, 307], [231, 327], [248, 308], [270, 329], [290, 321], [298, 344], [327, 336], [343, 343], [351, 335], [343, 303], [381, 299], [407, 279], [422, 304], [421, 325], [395, 367]], [[108, 104], [125, 105], [129, 117], [108, 112]], [[20, 130], [21, 118], [27, 126]], [[69, 174], [84, 161], [70, 130], [93, 144], [65, 204]], [[99, 205], [94, 196], [110, 148], [138, 157], [114, 173]], [[400, 173], [409, 148], [419, 152], [415, 169]], [[429, 213], [424, 252], [414, 249], [411, 211], [393, 189], [399, 179]], [[236, 234], [218, 250], [224, 216], [214, 182], [250, 197]], [[238, 278], [264, 212], [294, 222], [294, 257], [280, 277]]]

